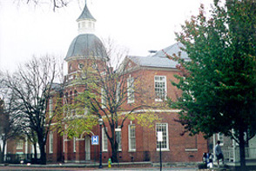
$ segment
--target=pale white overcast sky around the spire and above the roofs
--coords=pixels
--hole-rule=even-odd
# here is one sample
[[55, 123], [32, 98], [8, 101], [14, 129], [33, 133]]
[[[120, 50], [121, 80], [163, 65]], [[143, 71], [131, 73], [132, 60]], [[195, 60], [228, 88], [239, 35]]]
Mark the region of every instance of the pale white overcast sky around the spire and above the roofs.
[[[0, 0], [0, 69], [14, 71], [32, 56], [49, 54], [64, 59], [78, 34], [76, 20], [84, 0], [72, 0], [55, 12], [49, 3], [17, 2]], [[199, 13], [200, 3], [209, 9], [212, 0], [87, 0], [97, 19], [96, 35], [110, 37], [129, 49], [131, 56], [148, 56], [148, 50], [175, 43], [174, 32]]]

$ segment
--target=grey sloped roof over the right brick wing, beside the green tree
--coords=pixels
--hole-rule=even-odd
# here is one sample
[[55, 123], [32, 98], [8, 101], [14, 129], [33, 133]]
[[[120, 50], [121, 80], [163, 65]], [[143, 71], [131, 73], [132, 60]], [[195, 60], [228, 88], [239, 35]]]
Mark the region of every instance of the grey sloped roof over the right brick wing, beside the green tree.
[[[175, 43], [165, 49], [158, 50], [158, 52], [154, 56], [128, 56], [128, 58], [131, 59], [132, 62], [138, 63], [139, 66], [176, 68], [178, 62], [167, 58], [165, 54], [168, 54], [170, 56], [172, 56], [173, 54], [178, 54], [179, 51], [181, 51], [180, 47], [184, 47], [184, 45], [180, 43]], [[188, 58], [185, 51], [181, 51], [181, 57]]]

